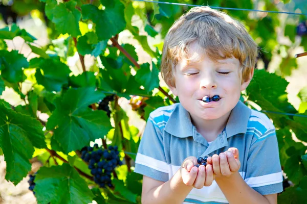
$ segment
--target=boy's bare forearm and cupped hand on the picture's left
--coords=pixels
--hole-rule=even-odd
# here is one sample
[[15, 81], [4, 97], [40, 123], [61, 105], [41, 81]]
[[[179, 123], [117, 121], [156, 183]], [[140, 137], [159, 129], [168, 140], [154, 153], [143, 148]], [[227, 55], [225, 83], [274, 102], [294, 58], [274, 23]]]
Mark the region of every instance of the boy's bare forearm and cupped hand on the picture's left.
[[182, 203], [194, 188], [210, 186], [213, 181], [211, 165], [194, 167], [195, 157], [188, 157], [182, 167], [167, 182], [143, 176], [142, 203]]

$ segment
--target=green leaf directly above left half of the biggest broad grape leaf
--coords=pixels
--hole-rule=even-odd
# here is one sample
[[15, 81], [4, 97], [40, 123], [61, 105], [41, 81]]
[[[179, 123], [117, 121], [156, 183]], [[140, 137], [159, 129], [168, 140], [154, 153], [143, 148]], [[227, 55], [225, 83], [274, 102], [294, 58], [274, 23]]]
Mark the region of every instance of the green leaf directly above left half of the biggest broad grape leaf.
[[30, 66], [38, 68], [35, 73], [36, 81], [50, 92], [60, 91], [63, 85], [68, 84], [71, 70], [58, 58], [33, 58]]

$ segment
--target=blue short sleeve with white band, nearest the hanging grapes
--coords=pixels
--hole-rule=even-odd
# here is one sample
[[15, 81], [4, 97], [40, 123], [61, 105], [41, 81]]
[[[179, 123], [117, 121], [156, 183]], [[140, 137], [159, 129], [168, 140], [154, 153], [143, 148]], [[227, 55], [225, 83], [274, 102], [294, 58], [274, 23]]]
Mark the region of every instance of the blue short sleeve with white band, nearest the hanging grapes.
[[164, 154], [161, 126], [149, 116], [139, 145], [135, 172], [166, 182], [168, 181], [168, 165]]

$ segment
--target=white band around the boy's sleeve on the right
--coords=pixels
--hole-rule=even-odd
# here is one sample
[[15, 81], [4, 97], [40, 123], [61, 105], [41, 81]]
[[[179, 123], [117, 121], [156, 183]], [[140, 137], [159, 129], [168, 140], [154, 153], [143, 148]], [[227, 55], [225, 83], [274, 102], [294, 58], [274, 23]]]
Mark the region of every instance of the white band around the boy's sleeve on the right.
[[282, 172], [271, 173], [245, 179], [245, 182], [252, 188], [259, 186], [267, 186], [282, 182]]

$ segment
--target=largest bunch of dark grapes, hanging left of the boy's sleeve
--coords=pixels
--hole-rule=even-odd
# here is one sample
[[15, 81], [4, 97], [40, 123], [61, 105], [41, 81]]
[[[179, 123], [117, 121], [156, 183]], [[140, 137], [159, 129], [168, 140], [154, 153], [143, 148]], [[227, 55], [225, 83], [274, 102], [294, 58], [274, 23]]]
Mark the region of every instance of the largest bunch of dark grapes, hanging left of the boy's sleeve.
[[123, 164], [117, 146], [108, 146], [107, 149], [99, 148], [98, 144], [94, 144], [94, 147], [83, 147], [81, 159], [89, 163], [96, 184], [101, 188], [113, 187], [111, 173], [115, 167]]

